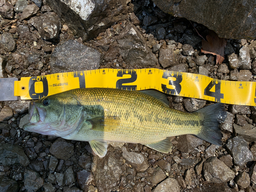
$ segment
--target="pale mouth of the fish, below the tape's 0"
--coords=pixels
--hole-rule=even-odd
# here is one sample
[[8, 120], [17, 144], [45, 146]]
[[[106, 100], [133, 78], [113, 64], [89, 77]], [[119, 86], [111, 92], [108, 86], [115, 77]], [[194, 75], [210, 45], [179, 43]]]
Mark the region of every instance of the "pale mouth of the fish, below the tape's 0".
[[46, 118], [46, 110], [39, 108], [35, 101], [29, 104], [29, 123], [38, 124], [44, 122]]

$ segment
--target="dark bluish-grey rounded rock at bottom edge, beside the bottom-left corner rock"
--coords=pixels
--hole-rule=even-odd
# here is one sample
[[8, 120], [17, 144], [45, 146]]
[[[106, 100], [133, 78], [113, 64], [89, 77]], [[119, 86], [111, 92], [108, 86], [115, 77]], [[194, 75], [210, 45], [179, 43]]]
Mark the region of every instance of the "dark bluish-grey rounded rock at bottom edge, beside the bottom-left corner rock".
[[33, 170], [27, 170], [24, 173], [24, 188], [29, 192], [38, 190], [42, 185], [44, 185], [44, 179], [38, 173]]

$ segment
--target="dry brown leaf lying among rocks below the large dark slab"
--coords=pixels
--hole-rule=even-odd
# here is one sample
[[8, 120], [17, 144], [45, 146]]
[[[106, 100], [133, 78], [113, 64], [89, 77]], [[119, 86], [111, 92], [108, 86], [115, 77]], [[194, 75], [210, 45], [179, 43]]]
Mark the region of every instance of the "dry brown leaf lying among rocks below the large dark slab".
[[216, 55], [216, 64], [222, 63], [224, 60], [224, 48], [226, 47], [226, 39], [219, 38], [218, 35], [209, 30], [209, 34], [206, 36], [206, 40], [202, 39], [201, 52], [205, 54]]

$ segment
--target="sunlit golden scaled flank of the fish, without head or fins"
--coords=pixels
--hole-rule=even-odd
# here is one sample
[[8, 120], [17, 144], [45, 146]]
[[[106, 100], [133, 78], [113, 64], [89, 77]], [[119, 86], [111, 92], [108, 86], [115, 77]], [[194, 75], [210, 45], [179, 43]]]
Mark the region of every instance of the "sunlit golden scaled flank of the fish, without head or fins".
[[[140, 92], [102, 88], [70, 92], [76, 95], [82, 105], [100, 105], [104, 116], [117, 116], [120, 119], [120, 125], [114, 131], [104, 131], [103, 140], [123, 142], [125, 139], [132, 143], [152, 143], [171, 136], [196, 135], [202, 129], [202, 125], [191, 126], [193, 122], [200, 122], [199, 115], [170, 109], [162, 101]], [[130, 112], [129, 116], [126, 115], [127, 111]], [[148, 116], [152, 119], [148, 120]], [[175, 121], [190, 123], [175, 124]], [[94, 133], [98, 136], [97, 131]]]

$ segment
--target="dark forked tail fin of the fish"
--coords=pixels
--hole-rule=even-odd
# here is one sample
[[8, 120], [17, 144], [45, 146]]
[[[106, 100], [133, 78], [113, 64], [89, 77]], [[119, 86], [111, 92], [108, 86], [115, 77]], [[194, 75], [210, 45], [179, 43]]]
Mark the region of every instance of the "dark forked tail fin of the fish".
[[227, 116], [224, 105], [222, 103], [211, 104], [194, 113], [201, 113], [204, 116], [204, 127], [197, 136], [209, 143], [221, 145], [222, 134], [219, 130], [219, 123], [223, 123]]

